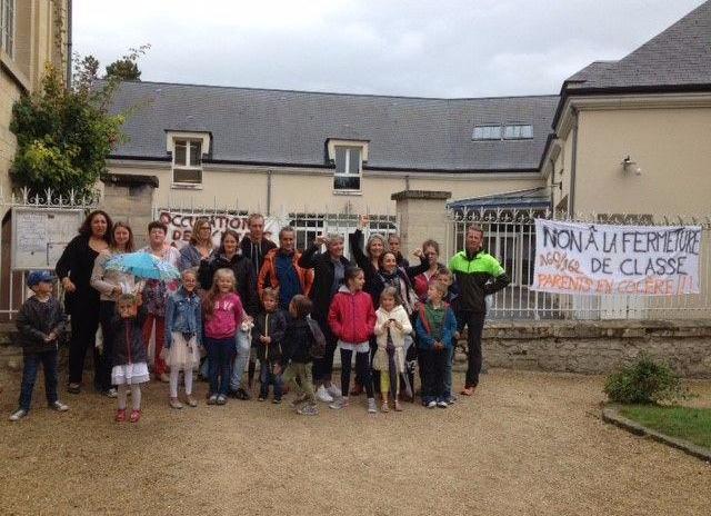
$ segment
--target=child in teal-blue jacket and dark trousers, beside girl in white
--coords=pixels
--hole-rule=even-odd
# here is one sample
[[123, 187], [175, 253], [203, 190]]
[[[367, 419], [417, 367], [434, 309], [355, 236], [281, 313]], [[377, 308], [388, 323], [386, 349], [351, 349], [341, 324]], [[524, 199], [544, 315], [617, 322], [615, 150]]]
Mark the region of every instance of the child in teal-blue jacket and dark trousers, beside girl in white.
[[422, 405], [428, 408], [447, 408], [450, 393], [445, 387], [447, 359], [457, 331], [454, 312], [442, 299], [447, 287], [440, 281], [431, 281], [428, 300], [420, 306], [417, 319], [418, 348], [424, 368]]

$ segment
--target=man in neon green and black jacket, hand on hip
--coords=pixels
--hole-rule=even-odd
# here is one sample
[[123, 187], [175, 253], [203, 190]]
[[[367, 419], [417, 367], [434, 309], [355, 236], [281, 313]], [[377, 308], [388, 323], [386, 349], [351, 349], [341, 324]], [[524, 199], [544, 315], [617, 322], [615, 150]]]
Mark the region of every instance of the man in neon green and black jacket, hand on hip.
[[459, 329], [469, 327], [467, 380], [461, 394], [471, 396], [479, 385], [481, 371], [481, 333], [487, 315], [485, 296], [498, 292], [509, 278], [501, 264], [482, 250], [483, 231], [475, 226], [467, 230], [465, 250], [458, 252], [449, 262], [450, 270], [459, 284]]

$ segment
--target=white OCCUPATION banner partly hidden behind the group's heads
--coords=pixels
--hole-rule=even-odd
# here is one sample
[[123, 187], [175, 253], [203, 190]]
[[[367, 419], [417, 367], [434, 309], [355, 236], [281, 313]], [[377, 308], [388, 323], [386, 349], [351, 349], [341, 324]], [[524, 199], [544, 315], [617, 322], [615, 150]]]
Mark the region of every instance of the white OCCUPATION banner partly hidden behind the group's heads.
[[[162, 210], [158, 220], [168, 226], [168, 242], [180, 249], [190, 241], [192, 225], [197, 219], [207, 218], [210, 221], [210, 226], [212, 227], [212, 244], [218, 247], [226, 229], [237, 231], [240, 240], [246, 232], [249, 232], [247, 217], [248, 216], [239, 215], [209, 215]], [[274, 244], [279, 244], [279, 229], [281, 228], [278, 219], [264, 217], [266, 238], [272, 240]]]

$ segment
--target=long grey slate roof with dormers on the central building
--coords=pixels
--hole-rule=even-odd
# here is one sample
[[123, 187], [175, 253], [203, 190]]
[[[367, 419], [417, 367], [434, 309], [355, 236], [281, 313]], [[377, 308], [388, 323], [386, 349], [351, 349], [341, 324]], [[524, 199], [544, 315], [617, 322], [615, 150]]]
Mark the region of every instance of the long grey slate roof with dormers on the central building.
[[[113, 157], [166, 159], [166, 131], [209, 131], [208, 161], [326, 166], [329, 138], [369, 140], [365, 169], [534, 170], [558, 96], [430, 99], [123, 82], [114, 109], [143, 105]], [[147, 102], [148, 101], [148, 102]], [[475, 125], [522, 122], [533, 139], [472, 141]]]

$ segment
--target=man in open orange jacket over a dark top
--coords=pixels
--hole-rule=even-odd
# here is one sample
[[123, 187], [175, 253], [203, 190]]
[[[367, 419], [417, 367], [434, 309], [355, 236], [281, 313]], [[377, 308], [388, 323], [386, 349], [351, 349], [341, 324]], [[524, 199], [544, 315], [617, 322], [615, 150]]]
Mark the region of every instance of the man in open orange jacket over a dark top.
[[282, 310], [289, 309], [289, 304], [296, 295], [308, 296], [313, 282], [313, 270], [299, 267], [301, 252], [294, 249], [296, 237], [297, 234], [291, 226], [281, 228], [279, 248], [267, 252], [257, 281], [260, 299], [264, 287], [279, 289], [279, 308]]

